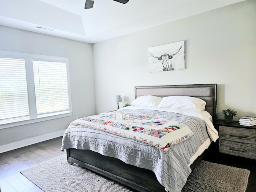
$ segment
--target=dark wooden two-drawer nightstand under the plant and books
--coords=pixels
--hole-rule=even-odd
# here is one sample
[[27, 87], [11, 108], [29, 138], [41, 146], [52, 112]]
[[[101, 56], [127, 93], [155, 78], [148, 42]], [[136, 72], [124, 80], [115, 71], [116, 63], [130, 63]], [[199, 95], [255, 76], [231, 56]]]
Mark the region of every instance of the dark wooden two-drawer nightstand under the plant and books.
[[242, 126], [238, 121], [215, 123], [219, 132], [219, 152], [256, 160], [256, 126]]

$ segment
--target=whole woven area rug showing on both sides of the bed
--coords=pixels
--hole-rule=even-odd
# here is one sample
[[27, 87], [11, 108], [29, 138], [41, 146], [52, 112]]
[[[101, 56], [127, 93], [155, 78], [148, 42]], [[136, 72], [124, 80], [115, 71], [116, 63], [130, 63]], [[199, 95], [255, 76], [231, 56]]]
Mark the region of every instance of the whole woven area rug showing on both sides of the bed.
[[[134, 192], [77, 164], [66, 155], [20, 172], [44, 192]], [[182, 192], [245, 192], [250, 171], [201, 161], [188, 177]]]

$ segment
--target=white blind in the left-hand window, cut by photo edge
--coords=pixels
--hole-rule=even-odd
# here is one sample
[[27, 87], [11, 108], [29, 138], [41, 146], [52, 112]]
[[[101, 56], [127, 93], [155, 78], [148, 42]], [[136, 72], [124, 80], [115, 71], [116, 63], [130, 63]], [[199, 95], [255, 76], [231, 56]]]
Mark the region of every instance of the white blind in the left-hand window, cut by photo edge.
[[28, 116], [25, 60], [0, 58], [0, 122]]

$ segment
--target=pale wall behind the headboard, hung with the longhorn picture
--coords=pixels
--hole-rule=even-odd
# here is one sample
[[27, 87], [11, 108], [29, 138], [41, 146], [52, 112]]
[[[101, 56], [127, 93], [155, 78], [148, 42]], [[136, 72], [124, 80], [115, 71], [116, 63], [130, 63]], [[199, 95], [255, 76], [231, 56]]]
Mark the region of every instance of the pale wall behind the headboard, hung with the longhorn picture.
[[[256, 116], [256, 1], [247, 0], [93, 45], [96, 110], [134, 100], [134, 86], [217, 84], [218, 118]], [[148, 73], [148, 48], [185, 40], [185, 70]]]

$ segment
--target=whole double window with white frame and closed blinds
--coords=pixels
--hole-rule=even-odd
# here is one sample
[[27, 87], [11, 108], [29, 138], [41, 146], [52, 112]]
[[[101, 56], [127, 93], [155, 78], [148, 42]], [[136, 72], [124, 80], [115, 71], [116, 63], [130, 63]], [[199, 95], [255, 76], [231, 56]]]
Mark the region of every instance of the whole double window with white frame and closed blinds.
[[0, 51], [0, 128], [71, 115], [68, 58]]

